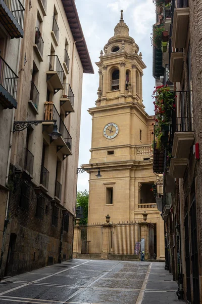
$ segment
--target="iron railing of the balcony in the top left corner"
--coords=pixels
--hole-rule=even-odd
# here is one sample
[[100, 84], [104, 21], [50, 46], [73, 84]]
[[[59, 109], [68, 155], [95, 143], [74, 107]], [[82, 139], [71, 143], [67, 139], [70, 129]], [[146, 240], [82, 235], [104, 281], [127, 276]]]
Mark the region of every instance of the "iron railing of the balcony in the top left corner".
[[25, 9], [19, 0], [3, 0], [12, 13], [13, 17], [16, 19], [20, 27], [23, 29], [24, 22], [24, 12]]

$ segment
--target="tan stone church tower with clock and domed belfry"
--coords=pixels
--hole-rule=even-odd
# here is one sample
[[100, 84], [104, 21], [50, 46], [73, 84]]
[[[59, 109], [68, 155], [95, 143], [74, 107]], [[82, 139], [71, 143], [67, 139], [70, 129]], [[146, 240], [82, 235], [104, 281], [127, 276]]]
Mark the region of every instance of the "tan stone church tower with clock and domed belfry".
[[[154, 116], [148, 116], [142, 100], [142, 54], [123, 20], [114, 36], [100, 52], [96, 62], [99, 87], [92, 116], [91, 159], [89, 169], [88, 223], [142, 220], [155, 224], [156, 256], [165, 258], [164, 226], [150, 191], [156, 182], [153, 173]], [[97, 168], [102, 177], [97, 179]]]

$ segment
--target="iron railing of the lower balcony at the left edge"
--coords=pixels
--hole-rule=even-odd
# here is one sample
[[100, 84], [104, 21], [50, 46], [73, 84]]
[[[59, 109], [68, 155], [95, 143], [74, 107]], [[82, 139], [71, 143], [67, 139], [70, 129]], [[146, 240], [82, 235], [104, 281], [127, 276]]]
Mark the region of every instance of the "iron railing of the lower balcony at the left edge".
[[0, 56], [0, 85], [2, 85], [7, 92], [16, 99], [18, 76]]

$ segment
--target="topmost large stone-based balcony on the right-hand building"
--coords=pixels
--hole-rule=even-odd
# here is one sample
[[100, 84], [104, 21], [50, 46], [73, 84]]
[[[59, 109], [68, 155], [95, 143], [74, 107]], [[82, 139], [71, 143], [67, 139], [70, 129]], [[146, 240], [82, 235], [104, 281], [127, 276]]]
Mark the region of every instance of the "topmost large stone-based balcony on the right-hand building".
[[172, 19], [173, 19], [173, 47], [184, 48], [189, 24], [188, 0], [178, 0], [177, 7], [175, 1], [172, 1]]

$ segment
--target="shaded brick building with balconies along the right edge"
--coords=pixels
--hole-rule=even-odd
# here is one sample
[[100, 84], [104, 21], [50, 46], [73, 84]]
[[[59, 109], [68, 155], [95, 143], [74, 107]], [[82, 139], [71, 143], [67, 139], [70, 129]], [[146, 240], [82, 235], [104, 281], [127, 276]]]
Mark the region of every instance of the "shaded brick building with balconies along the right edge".
[[[162, 24], [164, 29], [162, 50], [154, 48], [154, 76], [174, 91], [169, 130], [167, 134], [163, 133], [163, 142], [158, 151], [162, 155], [163, 170], [155, 170], [156, 173], [164, 173], [161, 199], [167, 236], [166, 268], [178, 281], [178, 297], [189, 303], [201, 303], [199, 20], [202, 7], [200, 2], [187, 0], [170, 1], [157, 9], [159, 13], [155, 27]], [[169, 27], [165, 28], [166, 24]], [[163, 40], [165, 36], [167, 38]], [[164, 43], [166, 48], [163, 48]], [[161, 54], [163, 61], [158, 60], [157, 53]]]

